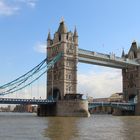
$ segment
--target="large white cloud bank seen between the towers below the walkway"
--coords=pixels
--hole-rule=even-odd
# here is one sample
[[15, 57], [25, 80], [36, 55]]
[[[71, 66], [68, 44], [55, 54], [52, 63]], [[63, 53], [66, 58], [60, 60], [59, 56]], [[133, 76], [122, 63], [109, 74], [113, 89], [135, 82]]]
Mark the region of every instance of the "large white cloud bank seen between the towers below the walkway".
[[94, 98], [109, 97], [113, 93], [121, 92], [121, 72], [111, 69], [78, 74], [78, 91]]

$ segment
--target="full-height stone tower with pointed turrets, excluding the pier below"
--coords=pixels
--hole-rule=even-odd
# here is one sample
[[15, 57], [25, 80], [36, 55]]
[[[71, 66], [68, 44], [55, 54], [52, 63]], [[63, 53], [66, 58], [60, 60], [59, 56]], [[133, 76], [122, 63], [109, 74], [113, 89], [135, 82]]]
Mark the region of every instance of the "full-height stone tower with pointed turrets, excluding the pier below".
[[77, 93], [78, 34], [67, 31], [64, 20], [60, 22], [54, 38], [47, 38], [47, 62], [59, 52], [63, 57], [47, 72], [47, 98], [64, 99], [65, 94]]

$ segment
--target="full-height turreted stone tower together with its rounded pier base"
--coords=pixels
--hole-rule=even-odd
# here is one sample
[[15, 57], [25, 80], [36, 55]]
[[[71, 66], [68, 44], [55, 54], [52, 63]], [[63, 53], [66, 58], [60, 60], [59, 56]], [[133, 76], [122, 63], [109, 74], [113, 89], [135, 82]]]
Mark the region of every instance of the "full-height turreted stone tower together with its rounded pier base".
[[88, 117], [88, 101], [77, 94], [78, 34], [67, 31], [64, 21], [51, 38], [47, 38], [47, 63], [58, 53], [61, 59], [47, 72], [47, 99], [55, 104], [39, 105], [39, 116], [77, 116]]

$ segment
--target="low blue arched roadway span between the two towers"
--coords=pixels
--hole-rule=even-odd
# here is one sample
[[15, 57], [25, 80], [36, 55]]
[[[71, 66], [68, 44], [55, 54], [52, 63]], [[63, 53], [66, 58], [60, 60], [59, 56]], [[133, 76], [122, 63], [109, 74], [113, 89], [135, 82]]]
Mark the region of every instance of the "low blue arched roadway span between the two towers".
[[121, 110], [135, 110], [135, 103], [122, 103], [122, 102], [93, 102], [88, 104], [89, 109], [94, 109], [98, 106], [108, 106], [113, 108], [118, 108]]

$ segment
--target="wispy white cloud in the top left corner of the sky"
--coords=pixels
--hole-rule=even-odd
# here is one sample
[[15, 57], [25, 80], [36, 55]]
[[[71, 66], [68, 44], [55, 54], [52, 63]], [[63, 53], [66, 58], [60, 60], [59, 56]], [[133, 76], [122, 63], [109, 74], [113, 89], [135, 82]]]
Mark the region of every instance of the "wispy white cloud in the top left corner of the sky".
[[0, 15], [10, 16], [16, 14], [23, 6], [34, 8], [37, 0], [0, 0]]

